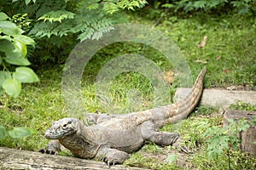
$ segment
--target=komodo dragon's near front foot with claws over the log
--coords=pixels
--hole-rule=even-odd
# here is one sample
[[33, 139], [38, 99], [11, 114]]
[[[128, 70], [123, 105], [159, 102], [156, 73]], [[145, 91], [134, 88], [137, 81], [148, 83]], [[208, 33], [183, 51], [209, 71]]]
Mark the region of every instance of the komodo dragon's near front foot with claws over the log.
[[103, 146], [98, 150], [96, 158], [105, 161], [108, 166], [110, 166], [115, 164], [122, 164], [126, 159], [129, 158], [129, 154], [121, 150]]

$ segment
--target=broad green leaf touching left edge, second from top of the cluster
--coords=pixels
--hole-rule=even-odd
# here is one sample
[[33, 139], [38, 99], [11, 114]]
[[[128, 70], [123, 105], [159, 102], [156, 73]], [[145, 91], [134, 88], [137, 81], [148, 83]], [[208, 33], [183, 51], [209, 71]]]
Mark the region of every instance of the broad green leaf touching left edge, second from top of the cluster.
[[4, 34], [11, 36], [22, 34], [24, 32], [11, 21], [0, 21], [0, 29]]

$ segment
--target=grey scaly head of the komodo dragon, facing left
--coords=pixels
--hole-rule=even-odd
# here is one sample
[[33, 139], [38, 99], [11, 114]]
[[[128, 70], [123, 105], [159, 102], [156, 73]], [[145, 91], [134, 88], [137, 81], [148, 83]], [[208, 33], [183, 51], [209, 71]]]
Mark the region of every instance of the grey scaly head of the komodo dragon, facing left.
[[64, 139], [79, 130], [79, 120], [75, 118], [63, 118], [52, 124], [45, 132], [47, 139]]

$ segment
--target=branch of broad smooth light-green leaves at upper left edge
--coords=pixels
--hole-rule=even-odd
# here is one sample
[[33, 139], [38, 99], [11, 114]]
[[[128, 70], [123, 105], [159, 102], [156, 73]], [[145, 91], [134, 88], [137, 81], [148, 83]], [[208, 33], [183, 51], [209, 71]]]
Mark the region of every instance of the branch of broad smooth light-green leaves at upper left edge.
[[[26, 59], [26, 45], [35, 47], [35, 42], [31, 37], [22, 35], [24, 33], [12, 21], [9, 21], [7, 14], [0, 13], [0, 94], [5, 91], [11, 97], [18, 97], [21, 91], [21, 83], [38, 82], [38, 76], [32, 69], [26, 67], [30, 65]], [[11, 71], [11, 65], [19, 65], [15, 71]]]

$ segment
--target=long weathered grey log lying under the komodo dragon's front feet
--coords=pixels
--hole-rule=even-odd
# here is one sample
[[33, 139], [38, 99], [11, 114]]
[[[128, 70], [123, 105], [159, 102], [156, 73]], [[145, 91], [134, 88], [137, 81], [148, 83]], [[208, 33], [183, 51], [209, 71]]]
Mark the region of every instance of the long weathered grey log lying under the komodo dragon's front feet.
[[92, 161], [68, 156], [49, 156], [35, 151], [0, 148], [0, 169], [127, 169], [139, 167], [115, 165], [108, 167], [102, 161]]

